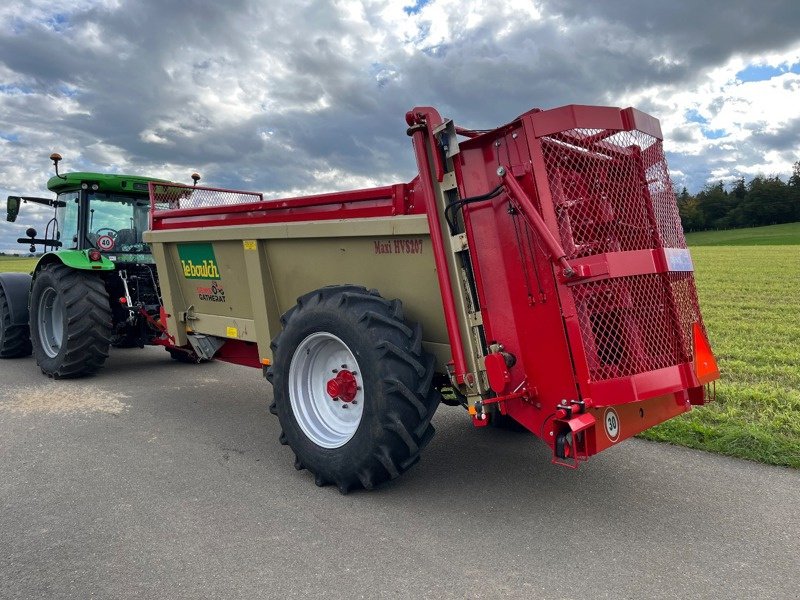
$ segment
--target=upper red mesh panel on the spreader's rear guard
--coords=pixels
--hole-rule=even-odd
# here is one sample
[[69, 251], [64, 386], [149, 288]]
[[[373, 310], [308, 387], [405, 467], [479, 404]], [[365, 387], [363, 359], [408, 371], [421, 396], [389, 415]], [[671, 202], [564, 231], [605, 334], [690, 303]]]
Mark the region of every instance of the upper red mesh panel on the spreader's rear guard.
[[541, 142], [567, 259], [686, 247], [660, 140], [572, 129]]

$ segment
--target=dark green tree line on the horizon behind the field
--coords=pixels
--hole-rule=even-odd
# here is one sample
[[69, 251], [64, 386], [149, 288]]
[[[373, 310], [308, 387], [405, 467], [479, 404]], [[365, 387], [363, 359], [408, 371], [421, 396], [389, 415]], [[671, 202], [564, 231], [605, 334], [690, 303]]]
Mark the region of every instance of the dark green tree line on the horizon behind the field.
[[740, 178], [729, 188], [722, 182], [708, 184], [694, 195], [684, 187], [676, 196], [685, 231], [800, 221], [800, 161], [786, 182], [758, 175], [749, 183]]

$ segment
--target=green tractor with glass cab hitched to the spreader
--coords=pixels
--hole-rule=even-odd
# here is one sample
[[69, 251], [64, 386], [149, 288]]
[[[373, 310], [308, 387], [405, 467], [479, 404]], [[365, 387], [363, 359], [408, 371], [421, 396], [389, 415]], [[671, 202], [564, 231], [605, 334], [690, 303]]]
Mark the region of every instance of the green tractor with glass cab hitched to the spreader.
[[[54, 199], [9, 196], [7, 219], [23, 203], [54, 209], [44, 236], [29, 228], [31, 252], [44, 254], [33, 272], [0, 273], [0, 358], [33, 353], [46, 375], [80, 377], [96, 372], [110, 346], [161, 344], [173, 358], [194, 361], [173, 348], [161, 325], [158, 275], [149, 246], [149, 177], [58, 173], [47, 188]], [[199, 176], [193, 175], [195, 183]]]

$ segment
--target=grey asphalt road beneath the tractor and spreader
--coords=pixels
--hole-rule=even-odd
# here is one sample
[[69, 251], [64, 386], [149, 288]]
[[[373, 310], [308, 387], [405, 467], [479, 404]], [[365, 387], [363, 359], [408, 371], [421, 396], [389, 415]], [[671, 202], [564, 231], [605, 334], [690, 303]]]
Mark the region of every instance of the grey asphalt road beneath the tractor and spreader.
[[800, 597], [800, 472], [628, 441], [577, 471], [442, 406], [422, 461], [295, 471], [259, 371], [0, 362], [0, 598]]

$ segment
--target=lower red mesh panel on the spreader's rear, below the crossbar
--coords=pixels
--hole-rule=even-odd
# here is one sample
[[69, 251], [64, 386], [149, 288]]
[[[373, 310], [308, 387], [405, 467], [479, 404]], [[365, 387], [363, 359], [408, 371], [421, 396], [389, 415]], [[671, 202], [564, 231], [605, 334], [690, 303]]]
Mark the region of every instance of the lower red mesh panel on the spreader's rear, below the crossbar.
[[621, 277], [572, 290], [592, 381], [692, 360], [692, 322], [700, 314], [690, 273]]

